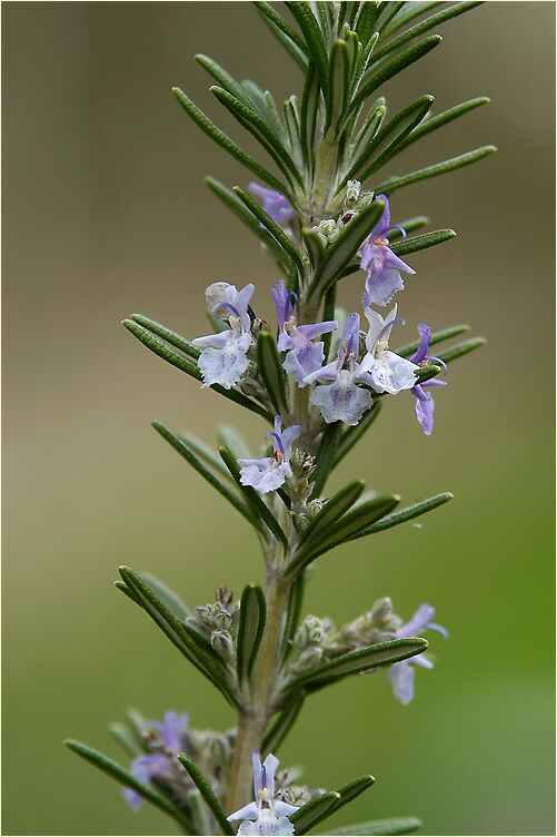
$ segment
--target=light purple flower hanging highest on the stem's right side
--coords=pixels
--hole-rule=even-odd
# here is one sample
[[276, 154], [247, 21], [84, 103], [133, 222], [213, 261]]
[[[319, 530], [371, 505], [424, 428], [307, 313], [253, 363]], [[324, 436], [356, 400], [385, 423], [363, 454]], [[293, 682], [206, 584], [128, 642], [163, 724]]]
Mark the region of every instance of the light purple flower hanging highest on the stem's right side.
[[385, 211], [366, 238], [360, 252], [360, 267], [367, 270], [361, 297], [364, 307], [371, 304], [388, 305], [395, 293], [405, 287], [400, 270], [409, 274], [416, 273], [390, 249], [388, 234], [392, 229], [401, 229], [405, 236], [406, 233], [402, 227], [390, 226], [388, 198], [385, 195], [377, 195], [377, 199], [385, 203]]

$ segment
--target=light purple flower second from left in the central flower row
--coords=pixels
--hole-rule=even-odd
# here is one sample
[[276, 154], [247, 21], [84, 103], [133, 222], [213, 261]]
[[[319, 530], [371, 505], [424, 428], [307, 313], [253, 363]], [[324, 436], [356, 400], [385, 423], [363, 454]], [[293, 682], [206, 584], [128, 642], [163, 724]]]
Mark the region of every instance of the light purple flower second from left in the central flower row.
[[326, 323], [297, 325], [294, 311], [297, 296], [288, 293], [284, 279], [271, 287], [271, 294], [279, 321], [278, 349], [287, 353], [282, 368], [292, 375], [298, 386], [306, 386], [304, 378], [320, 368], [325, 360], [324, 343], [312, 343], [312, 338], [335, 332], [338, 324], [329, 319]]

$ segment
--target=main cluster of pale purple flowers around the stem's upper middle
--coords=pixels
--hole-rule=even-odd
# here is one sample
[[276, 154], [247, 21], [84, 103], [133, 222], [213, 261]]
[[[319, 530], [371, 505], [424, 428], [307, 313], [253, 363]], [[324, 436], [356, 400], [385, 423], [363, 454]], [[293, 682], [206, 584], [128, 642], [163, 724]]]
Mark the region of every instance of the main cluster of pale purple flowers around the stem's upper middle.
[[[290, 216], [281, 195], [257, 184], [251, 184], [250, 189], [262, 198], [263, 207], [277, 223], [288, 221]], [[320, 230], [327, 242], [335, 238], [331, 224], [336, 225], [335, 229], [339, 229], [339, 225], [346, 226], [372, 197], [372, 193], [360, 191], [358, 181], [349, 181], [342, 215], [337, 220], [330, 219], [330, 224], [321, 224]], [[349, 313], [340, 337], [336, 341], [336, 357], [328, 360], [325, 356], [325, 342], [319, 338], [337, 332], [338, 321], [299, 323], [297, 294], [288, 291], [286, 282], [279, 279], [271, 287], [278, 321], [277, 351], [282, 357], [282, 368], [294, 384], [298, 387], [311, 387], [310, 404], [319, 411], [326, 424], [342, 422], [357, 425], [374, 404], [375, 397], [385, 393], [396, 395], [409, 390], [415, 397], [416, 416], [424, 432], [429, 435], [434, 425], [434, 401], [426, 387], [442, 386], [444, 382], [430, 380], [420, 384], [416, 373], [420, 366], [438, 362], [438, 358], [428, 354], [430, 329], [420, 324], [418, 351], [411, 358], [401, 357], [389, 348], [394, 326], [404, 323], [397, 316], [397, 305], [385, 318], [371, 307], [387, 305], [394, 294], [404, 288], [401, 272], [415, 273], [389, 247], [389, 234], [402, 228], [390, 226], [389, 201], [385, 195], [377, 197], [385, 204], [385, 209], [360, 248], [359, 263], [366, 272], [362, 305], [367, 331], [360, 331], [358, 312]], [[255, 361], [257, 333], [265, 325], [249, 306], [253, 289], [253, 285], [248, 284], [238, 291], [235, 285], [225, 282], [213, 283], [207, 288], [209, 311], [213, 317], [223, 322], [223, 329], [192, 341], [193, 346], [201, 349], [198, 366], [205, 386], [220, 384], [225, 388], [231, 388], [246, 382], [250, 358]], [[257, 364], [253, 363], [249, 380], [257, 385]], [[287, 420], [288, 416], [276, 420], [275, 430], [270, 434], [273, 439], [270, 456], [240, 460], [242, 483], [261, 494], [280, 488], [291, 476], [291, 444], [304, 429], [300, 425], [287, 425], [282, 429]]]

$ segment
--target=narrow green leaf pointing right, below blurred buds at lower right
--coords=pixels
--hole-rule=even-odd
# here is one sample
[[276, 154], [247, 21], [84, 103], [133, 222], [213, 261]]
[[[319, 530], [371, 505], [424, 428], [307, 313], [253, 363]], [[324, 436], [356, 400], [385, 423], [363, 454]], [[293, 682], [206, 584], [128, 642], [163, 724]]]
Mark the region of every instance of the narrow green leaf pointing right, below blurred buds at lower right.
[[335, 660], [314, 669], [314, 671], [296, 678], [286, 687], [286, 693], [299, 689], [315, 691], [350, 674], [360, 674], [370, 669], [390, 666], [394, 662], [407, 660], [409, 657], [416, 657], [416, 654], [426, 651], [427, 648], [428, 642], [421, 637], [394, 639], [388, 642], [379, 642], [376, 646], [360, 648], [358, 651], [337, 657]]

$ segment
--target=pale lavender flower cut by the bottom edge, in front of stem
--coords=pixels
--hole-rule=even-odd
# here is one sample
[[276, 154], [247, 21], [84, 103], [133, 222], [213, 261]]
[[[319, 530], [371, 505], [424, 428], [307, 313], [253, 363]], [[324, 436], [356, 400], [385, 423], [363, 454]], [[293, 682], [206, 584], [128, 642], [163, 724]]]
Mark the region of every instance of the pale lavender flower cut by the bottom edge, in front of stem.
[[242, 836], [295, 834], [289, 817], [296, 814], [297, 806], [275, 799], [275, 774], [279, 764], [278, 758], [270, 752], [261, 764], [259, 752], [253, 752], [252, 760], [256, 801], [230, 814], [228, 821], [243, 820], [238, 829], [238, 834]]

